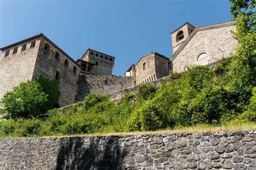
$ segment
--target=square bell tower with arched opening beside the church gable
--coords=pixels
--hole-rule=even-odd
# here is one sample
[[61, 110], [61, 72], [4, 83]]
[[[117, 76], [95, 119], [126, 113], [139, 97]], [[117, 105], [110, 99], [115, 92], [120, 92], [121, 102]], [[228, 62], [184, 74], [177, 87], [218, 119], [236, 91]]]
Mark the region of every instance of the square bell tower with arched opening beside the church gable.
[[177, 30], [171, 33], [172, 35], [172, 53], [174, 54], [181, 44], [187, 39], [191, 32], [195, 29], [190, 23], [185, 23]]

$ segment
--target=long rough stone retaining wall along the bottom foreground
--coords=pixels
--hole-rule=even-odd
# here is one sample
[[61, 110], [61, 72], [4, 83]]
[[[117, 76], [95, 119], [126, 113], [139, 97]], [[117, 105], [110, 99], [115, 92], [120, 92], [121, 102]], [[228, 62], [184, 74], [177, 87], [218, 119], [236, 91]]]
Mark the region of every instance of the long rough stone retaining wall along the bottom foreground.
[[0, 139], [0, 168], [255, 169], [256, 131]]

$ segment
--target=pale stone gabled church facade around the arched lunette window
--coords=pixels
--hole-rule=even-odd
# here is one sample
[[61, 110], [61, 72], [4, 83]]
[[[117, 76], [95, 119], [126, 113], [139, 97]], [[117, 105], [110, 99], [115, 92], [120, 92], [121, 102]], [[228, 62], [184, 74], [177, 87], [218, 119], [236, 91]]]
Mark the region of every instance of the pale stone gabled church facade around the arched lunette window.
[[[173, 59], [173, 70], [183, 72], [186, 67], [215, 63], [221, 58], [227, 58], [235, 52], [237, 41], [231, 31], [235, 26], [198, 31], [184, 49]], [[207, 59], [197, 61], [197, 55], [205, 51]], [[172, 60], [172, 59], [171, 59]]]

